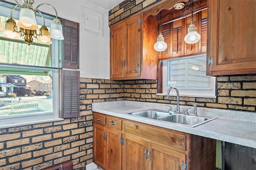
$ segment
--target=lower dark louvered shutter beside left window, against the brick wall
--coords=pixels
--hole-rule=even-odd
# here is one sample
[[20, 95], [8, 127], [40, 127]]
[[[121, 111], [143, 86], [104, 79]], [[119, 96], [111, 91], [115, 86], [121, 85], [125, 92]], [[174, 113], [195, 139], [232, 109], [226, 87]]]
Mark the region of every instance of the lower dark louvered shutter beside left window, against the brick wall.
[[78, 117], [80, 104], [80, 71], [62, 70], [61, 117]]

